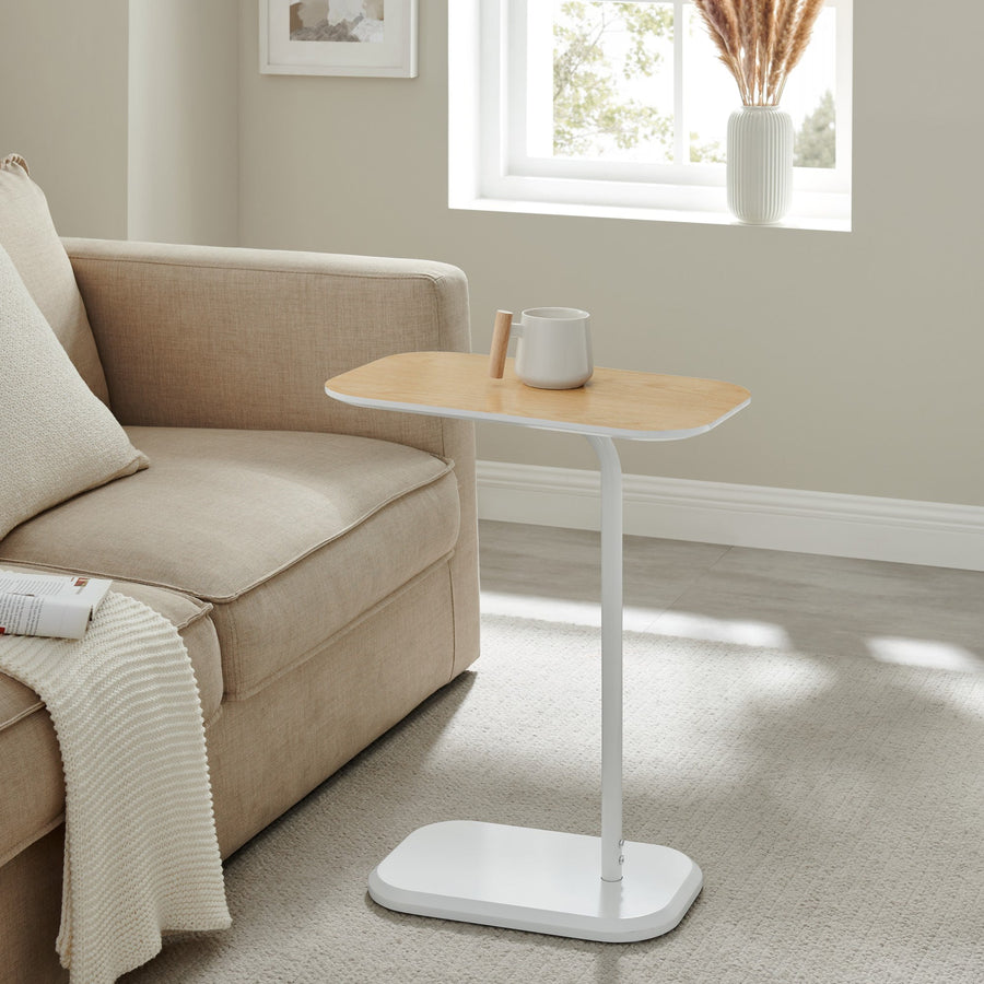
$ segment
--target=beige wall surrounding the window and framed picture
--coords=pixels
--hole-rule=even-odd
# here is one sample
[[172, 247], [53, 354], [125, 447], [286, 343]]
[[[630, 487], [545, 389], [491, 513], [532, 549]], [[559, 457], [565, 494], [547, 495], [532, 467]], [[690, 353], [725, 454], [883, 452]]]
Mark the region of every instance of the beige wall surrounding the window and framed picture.
[[[260, 75], [255, 7], [244, 244], [448, 260], [477, 351], [496, 307], [570, 305], [599, 364], [751, 389], [711, 434], [622, 443], [628, 471], [984, 505], [980, 4], [855, 3], [850, 234], [449, 211], [446, 2], [421, 3], [412, 81]], [[578, 438], [497, 425], [479, 454], [594, 467]]]

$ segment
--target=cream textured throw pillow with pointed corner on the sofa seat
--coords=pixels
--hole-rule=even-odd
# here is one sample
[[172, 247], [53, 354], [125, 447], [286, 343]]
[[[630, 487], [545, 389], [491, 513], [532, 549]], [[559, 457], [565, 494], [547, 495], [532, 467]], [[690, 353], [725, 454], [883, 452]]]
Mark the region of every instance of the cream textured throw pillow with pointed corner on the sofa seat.
[[147, 467], [85, 385], [0, 246], [0, 539], [80, 492]]

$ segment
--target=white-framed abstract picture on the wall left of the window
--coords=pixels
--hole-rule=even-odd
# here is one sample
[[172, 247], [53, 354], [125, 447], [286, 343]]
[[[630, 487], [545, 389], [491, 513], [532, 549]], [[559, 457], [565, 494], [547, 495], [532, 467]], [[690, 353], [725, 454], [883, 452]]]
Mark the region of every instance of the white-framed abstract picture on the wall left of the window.
[[260, 0], [260, 71], [417, 77], [418, 0]]

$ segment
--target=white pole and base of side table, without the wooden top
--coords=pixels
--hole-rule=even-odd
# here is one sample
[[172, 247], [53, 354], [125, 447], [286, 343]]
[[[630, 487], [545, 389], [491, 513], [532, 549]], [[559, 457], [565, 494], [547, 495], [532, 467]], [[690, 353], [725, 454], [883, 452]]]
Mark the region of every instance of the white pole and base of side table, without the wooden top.
[[586, 436], [601, 469], [601, 836], [431, 823], [370, 876], [387, 909], [630, 942], [668, 933], [701, 890], [686, 854], [622, 840], [622, 471], [610, 437]]

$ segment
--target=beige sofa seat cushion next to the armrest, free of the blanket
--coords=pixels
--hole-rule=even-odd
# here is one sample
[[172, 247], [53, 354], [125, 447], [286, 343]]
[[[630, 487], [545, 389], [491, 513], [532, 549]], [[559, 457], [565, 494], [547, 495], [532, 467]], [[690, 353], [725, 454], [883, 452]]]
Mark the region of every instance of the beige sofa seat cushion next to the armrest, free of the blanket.
[[405, 445], [127, 431], [152, 466], [17, 527], [0, 542], [0, 563], [57, 561], [212, 602], [233, 699], [316, 653], [457, 540], [452, 464]]

